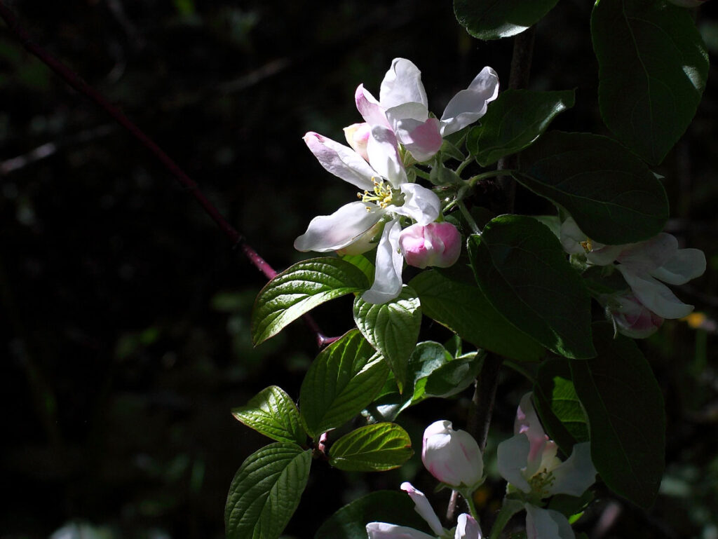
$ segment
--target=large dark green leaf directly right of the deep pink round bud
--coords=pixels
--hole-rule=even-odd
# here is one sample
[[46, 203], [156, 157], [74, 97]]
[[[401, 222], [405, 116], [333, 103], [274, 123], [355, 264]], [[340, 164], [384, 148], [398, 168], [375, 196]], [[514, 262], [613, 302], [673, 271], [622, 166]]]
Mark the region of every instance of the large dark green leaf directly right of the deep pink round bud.
[[591, 296], [551, 230], [500, 215], [468, 240], [481, 291], [513, 325], [564, 357], [593, 357]]

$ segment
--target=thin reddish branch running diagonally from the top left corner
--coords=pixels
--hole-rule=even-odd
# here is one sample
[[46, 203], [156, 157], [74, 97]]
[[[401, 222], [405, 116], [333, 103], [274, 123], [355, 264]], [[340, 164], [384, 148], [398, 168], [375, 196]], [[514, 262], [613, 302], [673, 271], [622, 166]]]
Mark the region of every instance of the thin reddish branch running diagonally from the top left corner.
[[[255, 268], [261, 271], [268, 279], [271, 279], [276, 276], [276, 271], [274, 271], [274, 268], [272, 268], [269, 263], [264, 260], [264, 258], [259, 256], [259, 253], [257, 253], [256, 250], [251, 247], [251, 245], [248, 245], [244, 236], [239, 233], [236, 228], [230, 225], [230, 223], [220, 213], [217, 207], [215, 207], [215, 205], [213, 205], [213, 203], [210, 202], [207, 197], [205, 197], [205, 194], [202, 193], [199, 186], [197, 185], [197, 182], [187, 176], [185, 171], [183, 171], [180, 166], [172, 160], [170, 156], [164, 153], [162, 148], [157, 146], [157, 144], [152, 139], [150, 139], [149, 136], [144, 133], [144, 131], [142, 131], [139, 127], [132, 123], [129, 118], [127, 118], [127, 116], [125, 116], [116, 106], [113, 106], [101, 93], [95, 90], [95, 88], [92, 88], [90, 85], [88, 85], [88, 83], [85, 83], [85, 81], [82, 80], [77, 73], [75, 73], [62, 62], [60, 62], [60, 60], [57, 60], [57, 58], [55, 58], [45, 49], [40, 47], [37, 43], [33, 42], [32, 37], [27, 32], [27, 30], [25, 30], [19, 24], [17, 18], [14, 16], [12, 11], [10, 11], [10, 9], [1, 0], [0, 17], [4, 19], [10, 32], [12, 32], [15, 37], [19, 39], [25, 49], [31, 52], [32, 55], [39, 58], [42, 63], [47, 65], [47, 67], [50, 67], [50, 69], [57, 73], [57, 75], [60, 75], [60, 78], [62, 78], [62, 80], [65, 80], [65, 83], [70, 85], [72, 88], [75, 88], [75, 90], [78, 90], [78, 92], [80, 92], [82, 95], [85, 95], [85, 97], [87, 97], [88, 99], [94, 101], [96, 105], [103, 108], [103, 110], [108, 113], [114, 121], [120, 124], [120, 126], [125, 128], [127, 131], [129, 131], [129, 133], [131, 133], [131, 135], [134, 136], [134, 138], [137, 139], [140, 144], [142, 144], [146, 149], [151, 151], [151, 153], [155, 157], [157, 157], [157, 159], [159, 159], [159, 161], [172, 174], [172, 176], [177, 179], [177, 182], [180, 182], [182, 187], [184, 187], [187, 192], [190, 192], [190, 194], [192, 194], [192, 197], [195, 197], [195, 200], [200, 204], [200, 206], [202, 206], [202, 209], [205, 210], [205, 213], [207, 213], [207, 215], [212, 218], [212, 220], [218, 225], [220, 230], [222, 230], [222, 232], [232, 241], [236, 248], [239, 248], [242, 251], [244, 256], [248, 258], [248, 260], [253, 264]], [[314, 334], [316, 335], [317, 344], [320, 347], [334, 340], [331, 337], [325, 337], [325, 335], [322, 334], [322, 332], [320, 331], [317, 322], [314, 322], [314, 319], [312, 319], [312, 317], [309, 317], [309, 315], [304, 316], [304, 322], [307, 323], [309, 329], [311, 329], [312, 332], [314, 332]]]

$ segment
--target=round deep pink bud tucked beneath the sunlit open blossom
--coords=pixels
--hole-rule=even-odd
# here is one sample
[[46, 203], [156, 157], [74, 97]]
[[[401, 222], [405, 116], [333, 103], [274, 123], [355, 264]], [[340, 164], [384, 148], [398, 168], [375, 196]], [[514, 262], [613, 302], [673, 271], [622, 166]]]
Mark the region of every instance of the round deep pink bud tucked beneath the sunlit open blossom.
[[409, 266], [448, 268], [461, 253], [461, 235], [450, 222], [411, 225], [401, 231], [399, 247]]

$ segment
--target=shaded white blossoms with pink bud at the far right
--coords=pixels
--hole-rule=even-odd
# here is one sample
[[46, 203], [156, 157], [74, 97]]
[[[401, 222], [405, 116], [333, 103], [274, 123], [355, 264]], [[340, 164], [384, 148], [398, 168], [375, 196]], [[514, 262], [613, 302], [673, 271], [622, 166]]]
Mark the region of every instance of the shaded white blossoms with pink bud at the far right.
[[650, 240], [627, 245], [603, 245], [590, 240], [569, 217], [561, 225], [561, 244], [569, 254], [584, 256], [594, 266], [615, 267], [630, 292], [605, 296], [602, 301], [617, 329], [641, 338], [658, 329], [663, 319], [683, 318], [692, 305], [678, 299], [668, 284], [685, 284], [706, 271], [706, 257], [699, 249], [679, 249], [678, 240], [661, 233]]

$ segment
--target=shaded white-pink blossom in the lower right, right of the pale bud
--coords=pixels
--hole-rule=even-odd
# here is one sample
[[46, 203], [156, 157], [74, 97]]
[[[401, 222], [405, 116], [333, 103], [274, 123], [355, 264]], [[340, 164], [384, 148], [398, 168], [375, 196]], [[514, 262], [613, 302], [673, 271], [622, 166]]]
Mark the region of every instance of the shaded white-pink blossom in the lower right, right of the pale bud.
[[498, 471], [523, 493], [528, 539], [573, 539], [574, 533], [564, 515], [541, 507], [541, 500], [556, 495], [581, 496], [595, 481], [590, 444], [574, 445], [564, 461], [538, 421], [531, 393], [523, 395], [514, 423], [516, 436], [498, 445]]

